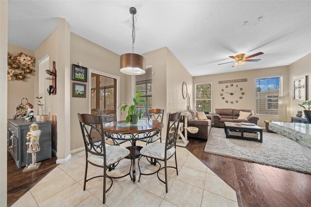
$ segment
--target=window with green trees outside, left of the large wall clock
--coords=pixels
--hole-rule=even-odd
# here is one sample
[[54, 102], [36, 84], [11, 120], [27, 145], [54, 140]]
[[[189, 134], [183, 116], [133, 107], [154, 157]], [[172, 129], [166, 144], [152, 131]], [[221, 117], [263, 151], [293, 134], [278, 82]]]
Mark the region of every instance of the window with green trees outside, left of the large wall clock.
[[212, 110], [212, 84], [195, 85], [195, 108], [197, 111]]

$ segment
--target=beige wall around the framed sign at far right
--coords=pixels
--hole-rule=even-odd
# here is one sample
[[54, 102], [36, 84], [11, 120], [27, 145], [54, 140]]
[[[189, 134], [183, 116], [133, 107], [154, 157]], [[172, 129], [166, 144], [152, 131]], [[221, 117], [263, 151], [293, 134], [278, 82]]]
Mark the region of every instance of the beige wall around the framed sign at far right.
[[[293, 80], [297, 78], [302, 78], [306, 75], [308, 77], [308, 100], [311, 100], [311, 53], [304, 56], [303, 58], [297, 60], [296, 62], [289, 65], [289, 94], [293, 97]], [[293, 98], [290, 100], [291, 102], [291, 116], [295, 116], [297, 110], [304, 110], [298, 104], [302, 102], [293, 101]]]

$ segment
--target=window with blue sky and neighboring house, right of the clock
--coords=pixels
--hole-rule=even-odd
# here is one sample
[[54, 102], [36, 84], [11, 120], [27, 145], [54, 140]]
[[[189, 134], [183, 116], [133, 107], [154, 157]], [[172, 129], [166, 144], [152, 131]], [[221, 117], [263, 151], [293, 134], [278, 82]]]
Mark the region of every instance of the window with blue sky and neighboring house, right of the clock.
[[278, 115], [282, 77], [256, 78], [257, 114]]

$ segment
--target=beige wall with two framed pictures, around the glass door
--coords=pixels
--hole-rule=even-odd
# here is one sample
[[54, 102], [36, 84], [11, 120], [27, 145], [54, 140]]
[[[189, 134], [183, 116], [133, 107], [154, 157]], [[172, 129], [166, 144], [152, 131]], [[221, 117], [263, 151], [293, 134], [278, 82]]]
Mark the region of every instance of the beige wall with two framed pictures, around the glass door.
[[[121, 102], [126, 100], [126, 75], [120, 72], [119, 69], [120, 56], [111, 52], [85, 38], [71, 33], [70, 38], [70, 62], [71, 64], [82, 63], [82, 66], [88, 69], [94, 69], [116, 75], [121, 77], [120, 97]], [[71, 78], [70, 78], [71, 80]], [[78, 113], [89, 113], [89, 83], [79, 82], [86, 84], [86, 98], [73, 98], [70, 94], [70, 119], [71, 119], [71, 150], [78, 149], [84, 146], [81, 129], [78, 121]], [[71, 86], [72, 87], [71, 81]], [[70, 90], [71, 91], [71, 90]], [[125, 118], [125, 117], [124, 117]]]

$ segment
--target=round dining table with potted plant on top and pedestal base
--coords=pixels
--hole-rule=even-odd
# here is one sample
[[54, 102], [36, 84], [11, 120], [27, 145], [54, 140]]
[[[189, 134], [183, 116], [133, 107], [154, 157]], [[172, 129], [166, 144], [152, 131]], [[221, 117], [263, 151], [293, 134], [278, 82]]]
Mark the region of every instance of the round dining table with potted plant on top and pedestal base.
[[131, 153], [132, 179], [136, 181], [135, 159], [140, 156], [141, 146], [136, 146], [139, 139], [149, 139], [158, 135], [163, 128], [163, 123], [154, 120], [138, 120], [132, 125], [126, 121], [113, 121], [104, 124], [104, 134], [107, 138], [117, 140], [130, 140], [132, 146], [126, 147]]

